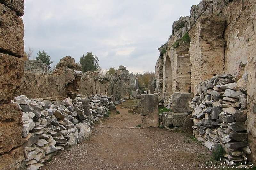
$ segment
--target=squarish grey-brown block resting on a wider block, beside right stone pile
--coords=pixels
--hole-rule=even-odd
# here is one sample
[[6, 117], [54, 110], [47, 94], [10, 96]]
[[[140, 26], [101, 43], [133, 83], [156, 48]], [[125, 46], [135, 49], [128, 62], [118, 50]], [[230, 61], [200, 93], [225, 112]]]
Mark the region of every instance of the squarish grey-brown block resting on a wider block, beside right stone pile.
[[189, 112], [189, 104], [193, 98], [191, 93], [178, 93], [172, 94], [172, 111], [177, 113]]

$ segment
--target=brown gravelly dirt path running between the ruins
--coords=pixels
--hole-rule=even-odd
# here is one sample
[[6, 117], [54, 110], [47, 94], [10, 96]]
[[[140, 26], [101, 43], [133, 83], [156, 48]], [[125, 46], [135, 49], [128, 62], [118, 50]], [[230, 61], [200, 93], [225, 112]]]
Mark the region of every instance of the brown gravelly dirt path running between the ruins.
[[[103, 127], [135, 127], [140, 114], [128, 113], [129, 102], [118, 105]], [[125, 104], [126, 103], [126, 104]], [[42, 170], [194, 170], [210, 152], [184, 133], [160, 128], [113, 129], [97, 127], [90, 141], [60, 152]]]

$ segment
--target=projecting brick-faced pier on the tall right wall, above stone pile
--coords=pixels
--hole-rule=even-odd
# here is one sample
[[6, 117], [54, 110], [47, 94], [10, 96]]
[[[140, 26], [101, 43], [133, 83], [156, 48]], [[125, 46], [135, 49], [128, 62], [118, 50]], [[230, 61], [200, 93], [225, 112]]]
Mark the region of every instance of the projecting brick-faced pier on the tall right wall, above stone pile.
[[200, 17], [189, 31], [191, 84], [195, 94], [199, 82], [224, 73], [224, 28], [223, 18]]

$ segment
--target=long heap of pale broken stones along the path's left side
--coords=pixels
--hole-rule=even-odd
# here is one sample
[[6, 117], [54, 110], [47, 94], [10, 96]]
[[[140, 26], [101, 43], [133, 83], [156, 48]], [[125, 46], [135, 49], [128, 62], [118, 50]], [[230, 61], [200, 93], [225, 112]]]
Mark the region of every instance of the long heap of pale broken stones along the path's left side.
[[27, 170], [37, 170], [58, 151], [89, 140], [94, 122], [108, 109], [115, 109], [111, 97], [95, 95], [71, 100], [28, 99], [21, 95], [12, 101], [23, 113], [22, 137]]

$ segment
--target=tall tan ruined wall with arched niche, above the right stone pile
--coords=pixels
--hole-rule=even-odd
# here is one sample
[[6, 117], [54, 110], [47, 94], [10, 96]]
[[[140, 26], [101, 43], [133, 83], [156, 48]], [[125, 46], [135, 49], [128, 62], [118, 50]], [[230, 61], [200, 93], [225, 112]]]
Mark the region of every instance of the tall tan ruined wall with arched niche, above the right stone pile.
[[172, 35], [159, 48], [155, 67], [155, 90], [165, 107], [172, 106], [174, 92], [198, 96], [199, 83], [217, 74], [231, 74], [237, 81], [248, 73], [246, 125], [252, 154], [247, 156], [253, 161], [256, 161], [255, 9], [254, 0], [203, 0], [192, 6], [190, 16], [173, 23]]

